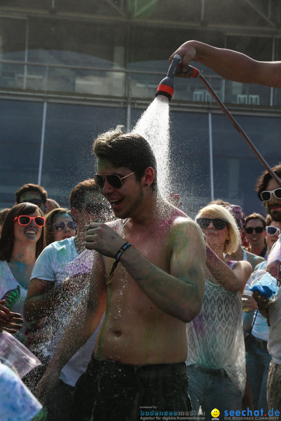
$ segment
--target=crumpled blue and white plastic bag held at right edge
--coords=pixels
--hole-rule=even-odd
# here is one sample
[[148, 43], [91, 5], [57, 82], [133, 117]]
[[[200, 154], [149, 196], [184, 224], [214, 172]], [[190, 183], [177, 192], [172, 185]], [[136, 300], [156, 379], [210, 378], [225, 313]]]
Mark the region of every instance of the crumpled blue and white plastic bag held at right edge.
[[271, 302], [278, 300], [279, 288], [276, 279], [265, 270], [256, 270], [250, 277], [250, 290], [252, 292], [259, 291], [260, 295], [265, 295], [267, 300]]

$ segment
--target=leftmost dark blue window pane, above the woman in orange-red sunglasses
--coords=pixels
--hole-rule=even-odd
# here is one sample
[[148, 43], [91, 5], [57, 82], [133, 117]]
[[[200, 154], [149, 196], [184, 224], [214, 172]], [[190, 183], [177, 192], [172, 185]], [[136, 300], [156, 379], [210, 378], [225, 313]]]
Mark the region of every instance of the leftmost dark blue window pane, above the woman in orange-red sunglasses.
[[0, 207], [15, 203], [15, 192], [38, 181], [43, 104], [0, 101]]

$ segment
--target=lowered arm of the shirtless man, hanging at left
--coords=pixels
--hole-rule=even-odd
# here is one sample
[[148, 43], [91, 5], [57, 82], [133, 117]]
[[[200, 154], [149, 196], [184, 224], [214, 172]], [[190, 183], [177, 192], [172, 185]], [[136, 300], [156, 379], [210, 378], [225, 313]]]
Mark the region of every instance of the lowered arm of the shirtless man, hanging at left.
[[50, 361], [44, 376], [38, 383], [35, 396], [45, 405], [51, 400], [59, 382], [59, 373], [75, 352], [94, 333], [106, 307], [107, 286], [102, 256], [95, 253], [88, 290], [72, 313], [64, 336]]

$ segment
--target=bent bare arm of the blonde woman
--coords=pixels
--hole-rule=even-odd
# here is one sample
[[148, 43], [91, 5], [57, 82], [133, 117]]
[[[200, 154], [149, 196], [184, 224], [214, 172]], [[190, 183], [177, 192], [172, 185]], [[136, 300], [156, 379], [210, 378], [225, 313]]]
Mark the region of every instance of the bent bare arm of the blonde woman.
[[233, 269], [223, 262], [208, 244], [206, 244], [206, 265], [222, 288], [227, 291], [240, 291], [244, 289], [247, 280], [251, 276], [252, 266], [249, 262], [239, 261], [233, 265]]

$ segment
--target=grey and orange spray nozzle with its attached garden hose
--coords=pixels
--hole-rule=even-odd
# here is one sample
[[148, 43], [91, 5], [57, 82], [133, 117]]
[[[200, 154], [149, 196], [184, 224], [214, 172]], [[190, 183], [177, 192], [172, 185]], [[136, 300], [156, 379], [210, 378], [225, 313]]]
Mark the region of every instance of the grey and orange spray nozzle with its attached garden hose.
[[[173, 96], [173, 93], [174, 93], [174, 76], [175, 76], [176, 73], [182, 73], [181, 62], [182, 62], [182, 58], [178, 54], [176, 54], [174, 56], [174, 59], [171, 62], [170, 67], [169, 67], [169, 70], [168, 70], [168, 73], [167, 73], [167, 77], [165, 77], [165, 79], [163, 79], [161, 81], [161, 83], [158, 85], [158, 88], [157, 88], [157, 91], [156, 91], [156, 96], [157, 95], [165, 95], [165, 96], [167, 96], [169, 98], [169, 101], [171, 100], [171, 97]], [[207, 80], [205, 79], [205, 77], [203, 77], [201, 75], [201, 72], [198, 69], [196, 69], [195, 67], [188, 66], [187, 71], [185, 73], [189, 73], [190, 74], [190, 77], [199, 77], [199, 79], [201, 80], [201, 82], [206, 86], [206, 88], [210, 92], [211, 96], [217, 102], [217, 104], [222, 109], [222, 111], [225, 113], [225, 115], [227, 116], [227, 118], [231, 121], [231, 123], [234, 125], [234, 127], [238, 130], [238, 132], [241, 134], [241, 136], [246, 140], [246, 142], [249, 145], [249, 147], [252, 149], [252, 151], [257, 156], [257, 158], [261, 161], [262, 165], [265, 166], [265, 168], [267, 169], [267, 171], [270, 173], [271, 177], [275, 181], [277, 181], [277, 183], [279, 184], [279, 186], [281, 186], [281, 180], [279, 179], [279, 177], [272, 170], [272, 168], [270, 168], [270, 165], [268, 165], [268, 163], [266, 162], [266, 160], [264, 159], [264, 157], [260, 154], [260, 152], [254, 146], [254, 144], [252, 143], [252, 141], [246, 135], [246, 133], [244, 132], [244, 130], [237, 123], [237, 121], [235, 120], [235, 118], [233, 117], [233, 115], [230, 114], [230, 112], [228, 111], [228, 109], [225, 107], [225, 104], [221, 101], [221, 99], [219, 99], [219, 97], [215, 93], [214, 89], [209, 84], [209, 82], [207, 82]]]

